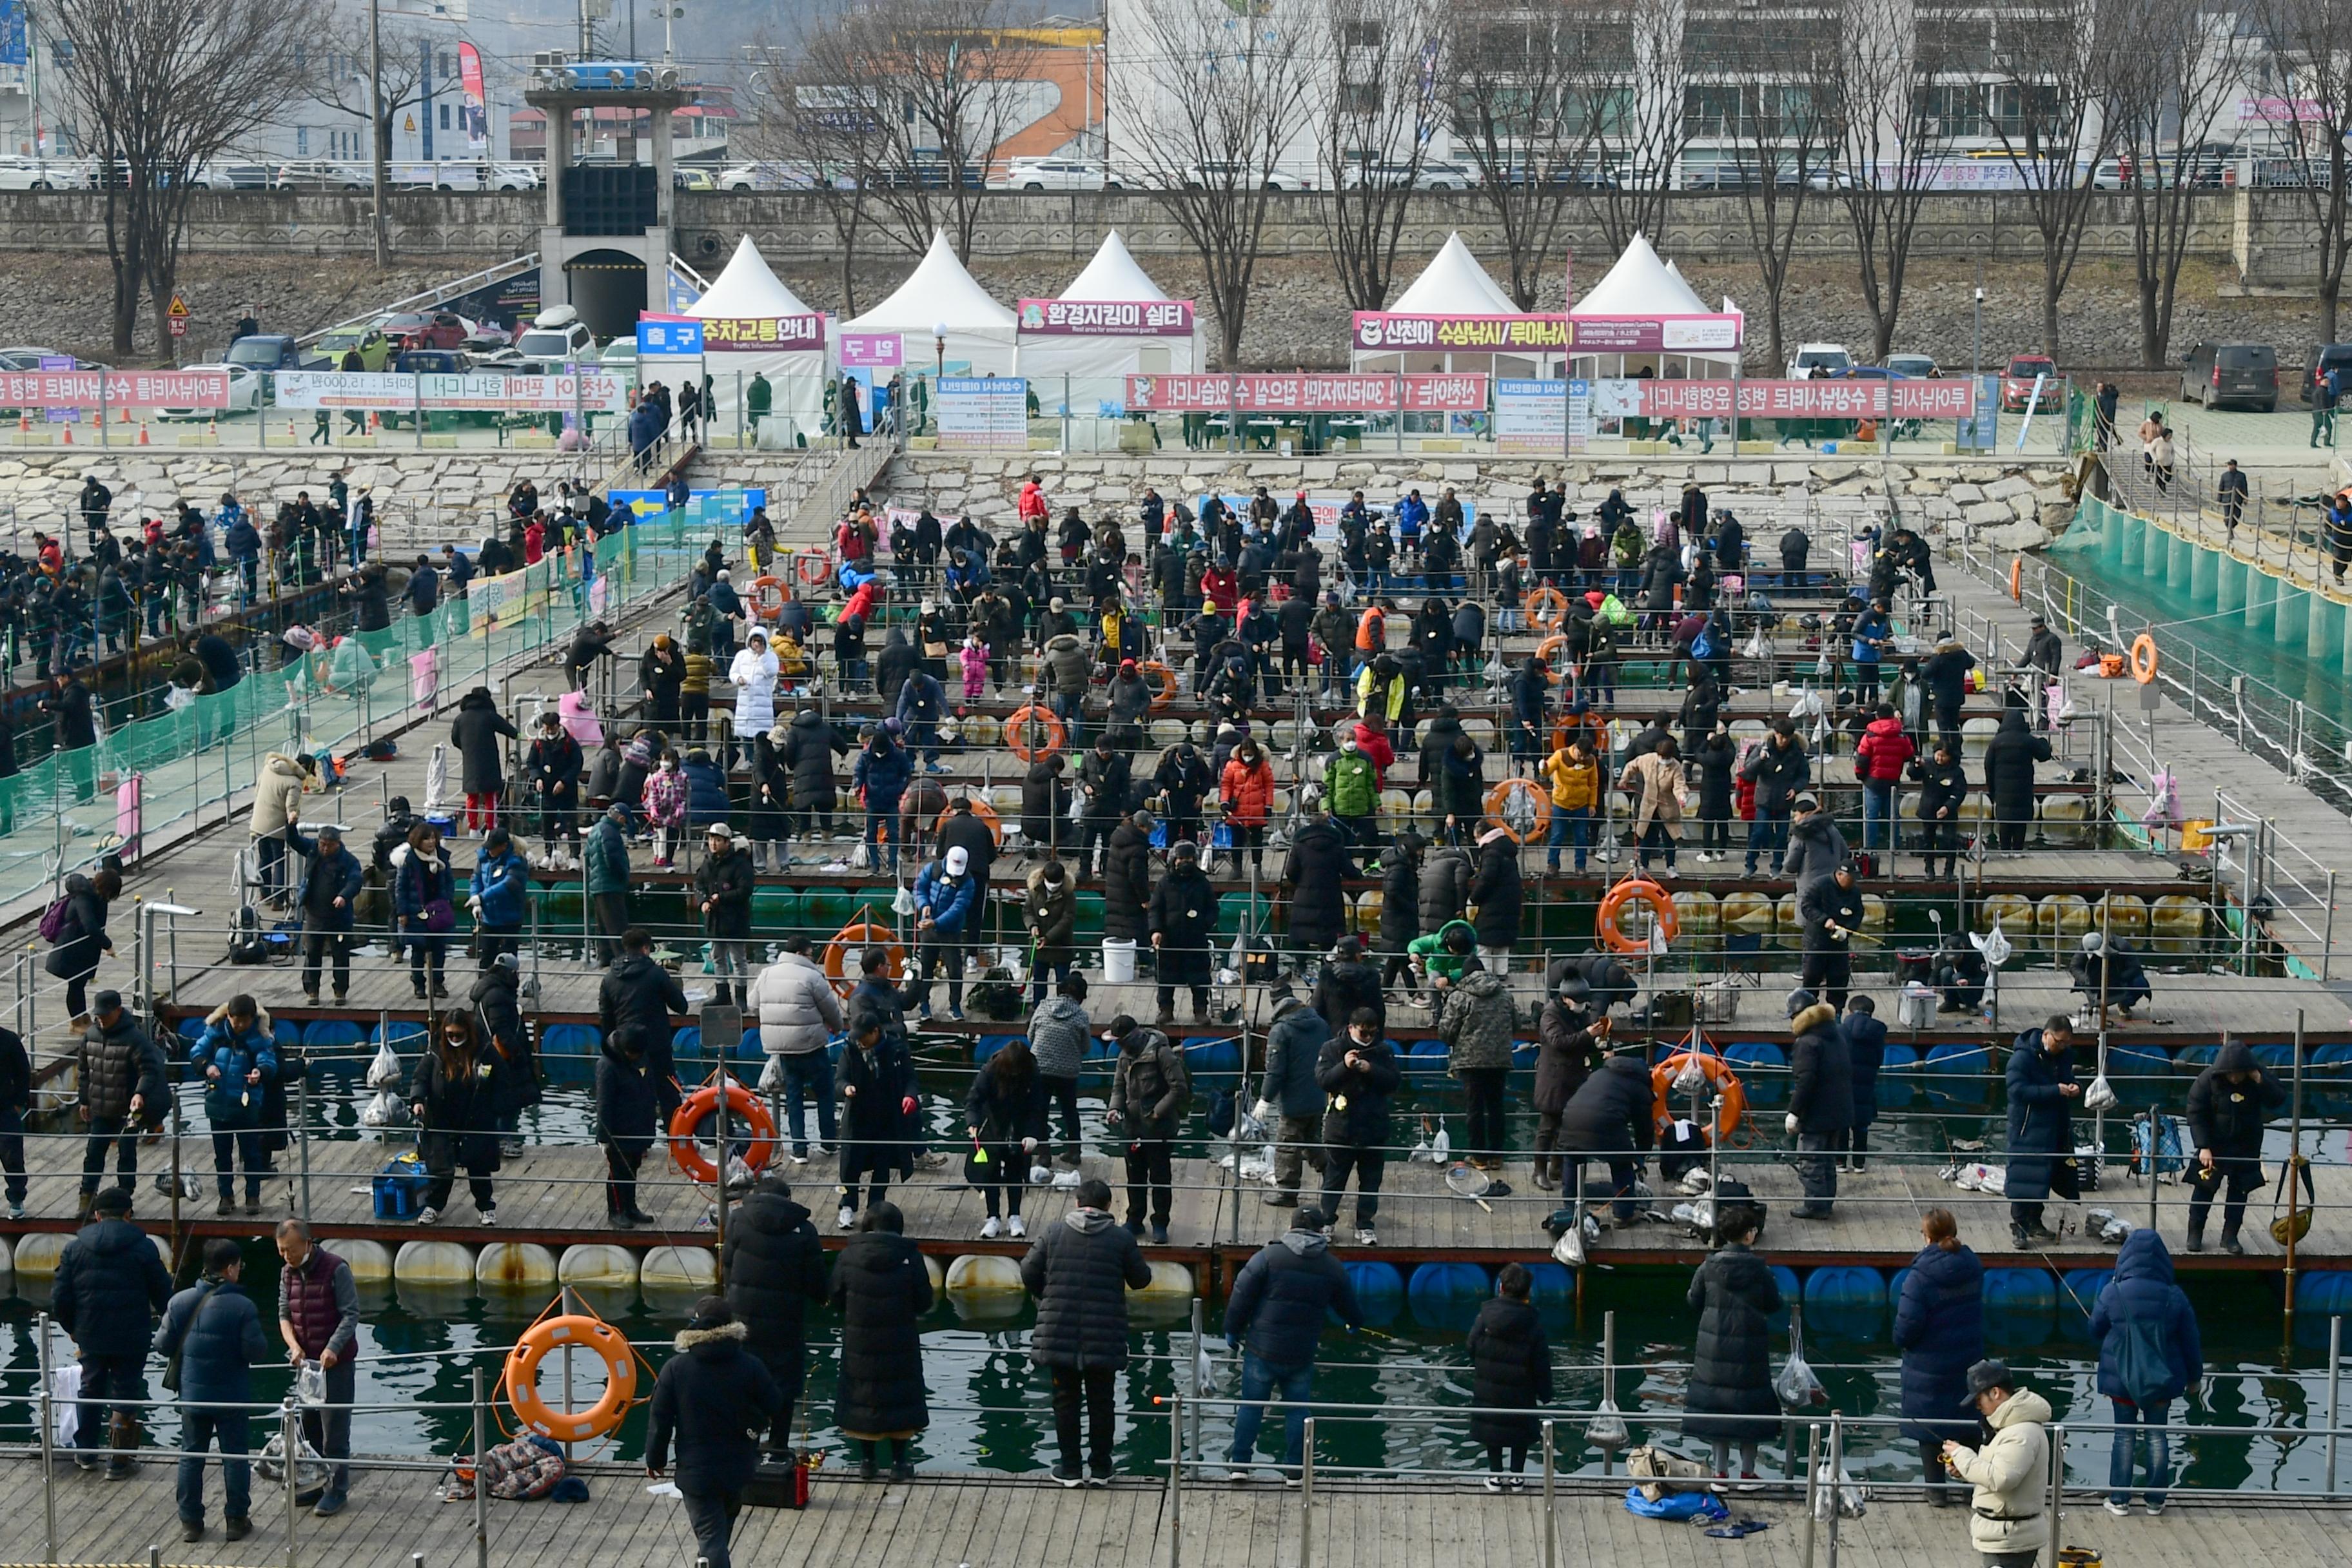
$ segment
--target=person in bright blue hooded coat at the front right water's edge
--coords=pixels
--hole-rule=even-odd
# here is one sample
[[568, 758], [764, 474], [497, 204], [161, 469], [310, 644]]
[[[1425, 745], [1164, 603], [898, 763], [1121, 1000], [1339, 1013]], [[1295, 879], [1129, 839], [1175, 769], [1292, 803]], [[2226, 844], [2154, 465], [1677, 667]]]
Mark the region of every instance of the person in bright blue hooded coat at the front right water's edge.
[[2114, 1408], [2114, 1446], [2107, 1453], [2107, 1512], [2131, 1512], [2131, 1481], [2140, 1439], [2147, 1439], [2147, 1512], [2164, 1512], [2164, 1486], [2173, 1472], [2164, 1420], [2173, 1401], [2204, 1378], [2204, 1342], [2197, 1309], [2173, 1284], [2173, 1255], [2154, 1229], [2124, 1237], [2114, 1279], [2091, 1309], [2098, 1345], [2098, 1392]]

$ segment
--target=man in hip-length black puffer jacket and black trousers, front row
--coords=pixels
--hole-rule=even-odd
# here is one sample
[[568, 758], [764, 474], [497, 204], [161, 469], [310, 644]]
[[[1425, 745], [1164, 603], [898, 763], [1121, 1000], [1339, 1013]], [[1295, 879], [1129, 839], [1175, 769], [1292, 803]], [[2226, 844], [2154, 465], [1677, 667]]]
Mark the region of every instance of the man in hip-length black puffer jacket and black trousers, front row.
[[1134, 1234], [1110, 1218], [1110, 1182], [1087, 1178], [1077, 1204], [1049, 1225], [1028, 1258], [1021, 1284], [1037, 1298], [1030, 1359], [1054, 1378], [1054, 1432], [1061, 1462], [1054, 1479], [1077, 1486], [1077, 1418], [1087, 1413], [1087, 1460], [1094, 1481], [1110, 1481], [1110, 1436], [1117, 1420], [1112, 1380], [1127, 1366], [1127, 1293], [1152, 1281], [1152, 1265]]

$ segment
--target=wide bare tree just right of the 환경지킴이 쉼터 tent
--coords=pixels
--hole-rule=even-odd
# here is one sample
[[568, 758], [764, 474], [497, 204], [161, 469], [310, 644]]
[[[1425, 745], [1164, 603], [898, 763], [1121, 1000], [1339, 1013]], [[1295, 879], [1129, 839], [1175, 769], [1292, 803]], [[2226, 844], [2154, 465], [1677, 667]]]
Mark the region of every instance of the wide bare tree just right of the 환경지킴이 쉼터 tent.
[[1221, 364], [1242, 355], [1272, 181], [1308, 127], [1305, 0], [1138, 0], [1110, 71], [1112, 176], [1150, 188], [1200, 256]]

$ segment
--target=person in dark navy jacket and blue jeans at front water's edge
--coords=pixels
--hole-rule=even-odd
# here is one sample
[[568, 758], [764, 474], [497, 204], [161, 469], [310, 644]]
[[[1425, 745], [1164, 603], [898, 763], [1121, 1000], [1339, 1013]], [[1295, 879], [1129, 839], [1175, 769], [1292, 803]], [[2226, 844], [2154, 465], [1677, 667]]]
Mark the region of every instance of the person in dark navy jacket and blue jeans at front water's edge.
[[1258, 1248], [1232, 1281], [1225, 1302], [1225, 1345], [1242, 1352], [1242, 1403], [1232, 1415], [1232, 1469], [1249, 1469], [1265, 1420], [1265, 1396], [1282, 1392], [1282, 1467], [1296, 1476], [1305, 1455], [1308, 1401], [1315, 1396], [1315, 1342], [1324, 1314], [1336, 1312], [1355, 1333], [1364, 1312], [1355, 1302], [1348, 1269], [1331, 1255], [1324, 1227], [1331, 1220], [1312, 1204], [1291, 1227]]

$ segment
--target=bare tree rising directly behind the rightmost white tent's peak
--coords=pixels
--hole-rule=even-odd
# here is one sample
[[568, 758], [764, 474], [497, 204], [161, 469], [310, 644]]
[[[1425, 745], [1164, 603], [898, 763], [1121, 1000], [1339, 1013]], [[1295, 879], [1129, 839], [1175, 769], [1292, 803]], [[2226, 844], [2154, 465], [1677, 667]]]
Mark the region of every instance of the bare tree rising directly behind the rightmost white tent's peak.
[[1623, 252], [1635, 235], [1665, 228], [1675, 167], [1689, 146], [1684, 7], [1682, 0], [1613, 0], [1585, 12], [1581, 24], [1566, 103], [1578, 148], [1569, 179], [1583, 190], [1609, 249]]

